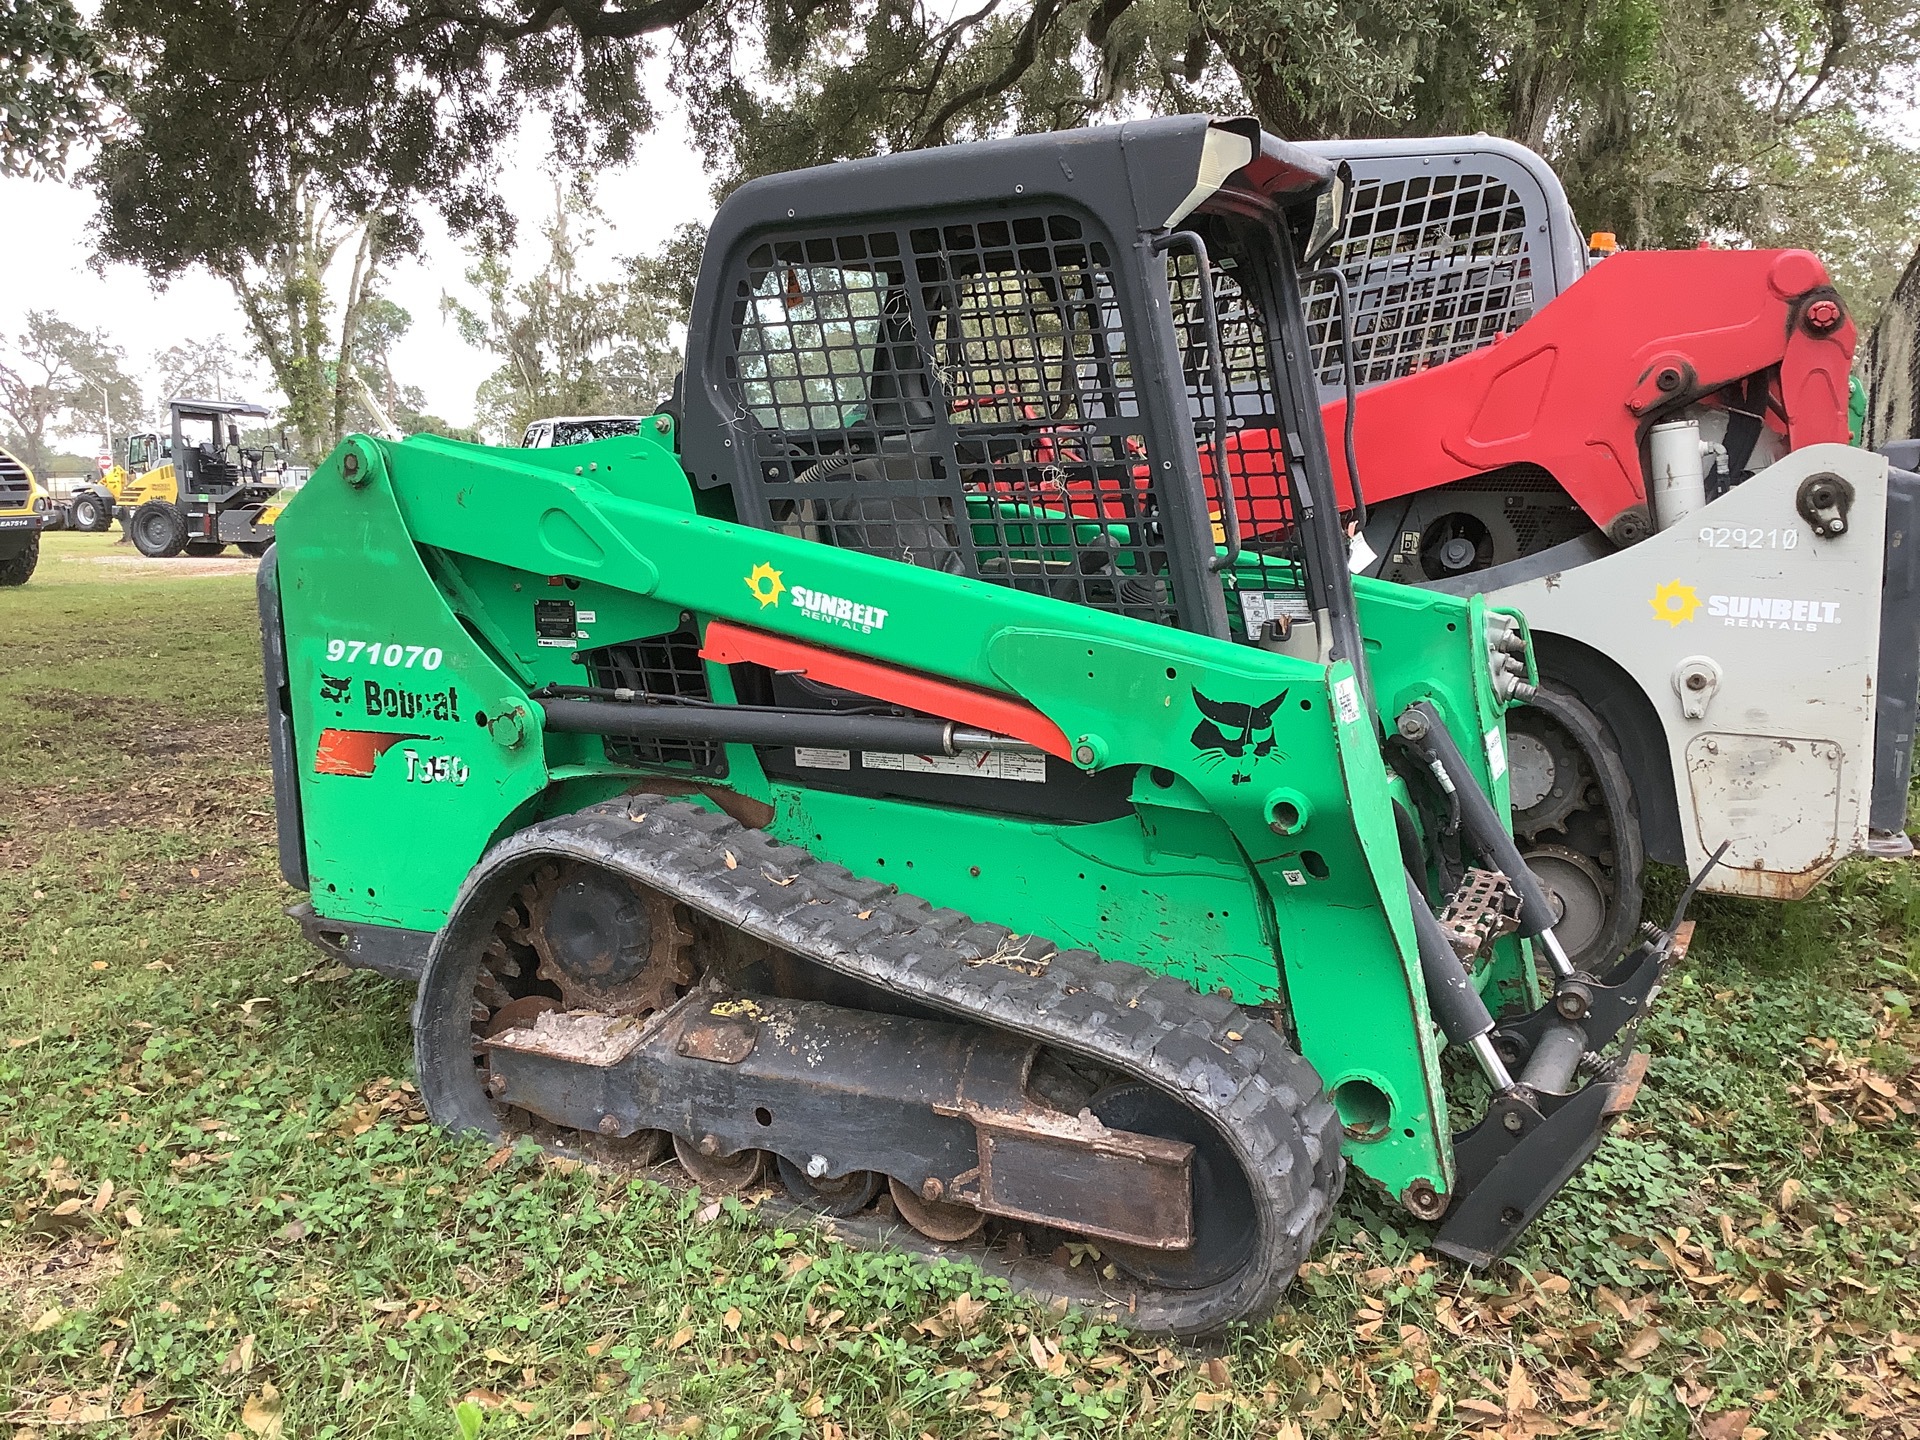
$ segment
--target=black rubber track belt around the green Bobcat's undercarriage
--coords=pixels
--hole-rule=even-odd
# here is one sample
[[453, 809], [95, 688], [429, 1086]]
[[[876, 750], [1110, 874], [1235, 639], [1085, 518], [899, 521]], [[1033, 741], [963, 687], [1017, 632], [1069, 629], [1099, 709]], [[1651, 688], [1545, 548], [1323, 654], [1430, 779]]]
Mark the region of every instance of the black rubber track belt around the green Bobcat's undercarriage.
[[828, 970], [1156, 1083], [1206, 1114], [1252, 1181], [1260, 1236], [1248, 1263], [1204, 1290], [1133, 1279], [1102, 1290], [1079, 1271], [989, 1265], [1043, 1302], [1204, 1334], [1267, 1315], [1327, 1227], [1344, 1183], [1332, 1102], [1271, 1023], [1225, 996], [933, 908], [659, 795], [597, 804], [501, 841], [474, 868], [455, 916], [490, 877], [540, 858], [605, 866]]

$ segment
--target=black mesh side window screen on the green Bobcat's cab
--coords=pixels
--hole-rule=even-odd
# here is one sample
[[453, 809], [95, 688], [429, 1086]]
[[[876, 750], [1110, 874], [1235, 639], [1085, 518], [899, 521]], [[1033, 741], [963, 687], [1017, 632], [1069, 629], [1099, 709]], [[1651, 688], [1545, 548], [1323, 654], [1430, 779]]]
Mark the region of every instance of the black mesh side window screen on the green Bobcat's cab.
[[1089, 223], [778, 238], [732, 296], [741, 518], [1177, 618], [1112, 252]]

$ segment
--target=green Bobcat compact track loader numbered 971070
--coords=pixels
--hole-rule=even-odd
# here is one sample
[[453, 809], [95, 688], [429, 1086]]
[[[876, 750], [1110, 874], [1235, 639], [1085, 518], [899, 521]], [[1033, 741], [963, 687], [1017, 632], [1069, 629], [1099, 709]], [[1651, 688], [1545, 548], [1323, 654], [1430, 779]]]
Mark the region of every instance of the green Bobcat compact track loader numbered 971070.
[[[261, 566], [280, 864], [417, 979], [438, 1121], [1169, 1332], [1271, 1309], [1348, 1167], [1513, 1244], [1678, 947], [1555, 943], [1521, 620], [1348, 574], [1336, 198], [1206, 117], [756, 180], [637, 436], [319, 468]], [[1210, 505], [1246, 424], [1284, 465]]]

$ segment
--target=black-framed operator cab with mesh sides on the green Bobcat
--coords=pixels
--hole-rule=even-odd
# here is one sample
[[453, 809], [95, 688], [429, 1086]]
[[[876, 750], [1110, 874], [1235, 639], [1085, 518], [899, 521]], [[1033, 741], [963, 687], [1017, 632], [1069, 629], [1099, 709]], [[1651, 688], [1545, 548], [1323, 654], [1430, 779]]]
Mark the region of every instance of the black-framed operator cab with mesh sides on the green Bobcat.
[[755, 180], [687, 470], [749, 524], [1359, 664], [1298, 280], [1342, 194], [1204, 115]]

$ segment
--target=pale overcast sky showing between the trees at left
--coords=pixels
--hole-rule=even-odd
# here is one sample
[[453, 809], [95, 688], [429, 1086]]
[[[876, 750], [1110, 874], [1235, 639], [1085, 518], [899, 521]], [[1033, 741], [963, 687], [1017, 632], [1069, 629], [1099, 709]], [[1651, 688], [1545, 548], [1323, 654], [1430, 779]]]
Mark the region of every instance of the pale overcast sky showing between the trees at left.
[[[607, 227], [595, 236], [588, 259], [588, 278], [611, 273], [616, 255], [659, 246], [685, 221], [712, 215], [708, 177], [701, 156], [687, 138], [678, 108], [662, 84], [653, 88], [660, 106], [660, 127], [645, 140], [634, 165], [595, 179], [595, 200], [607, 213]], [[516, 271], [538, 265], [543, 240], [541, 221], [553, 211], [553, 180], [543, 171], [543, 134], [518, 136], [501, 190], [520, 217]], [[54, 182], [0, 179], [0, 338], [12, 344], [29, 309], [52, 309], [61, 319], [86, 328], [102, 328], [125, 348], [129, 371], [140, 374], [154, 397], [157, 380], [152, 357], [188, 336], [227, 336], [236, 351], [250, 351], [246, 324], [232, 292], [205, 273], [192, 273], [156, 292], [146, 275], [127, 265], [104, 275], [88, 269], [92, 257], [94, 200], [86, 190]], [[396, 374], [426, 392], [428, 411], [455, 424], [470, 424], [474, 386], [499, 363], [468, 348], [440, 317], [440, 296], [478, 300], [461, 280], [468, 255], [438, 223], [420, 215], [426, 244], [419, 259], [394, 267], [384, 282], [386, 296], [413, 313], [413, 330], [396, 351]], [[259, 372], [265, 386], [265, 369]], [[278, 396], [265, 396], [278, 403]], [[159, 396], [165, 399], [165, 396]], [[125, 428], [115, 419], [115, 434]], [[90, 440], [98, 445], [100, 438]], [[86, 444], [79, 449], [86, 451]]]

